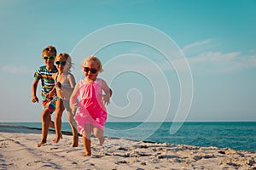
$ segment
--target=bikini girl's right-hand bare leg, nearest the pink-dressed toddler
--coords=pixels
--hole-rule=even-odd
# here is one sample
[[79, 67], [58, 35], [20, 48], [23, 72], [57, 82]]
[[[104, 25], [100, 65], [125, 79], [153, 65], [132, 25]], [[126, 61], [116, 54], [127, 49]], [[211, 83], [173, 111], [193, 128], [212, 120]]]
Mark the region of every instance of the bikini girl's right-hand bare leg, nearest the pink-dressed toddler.
[[78, 135], [78, 130], [77, 130], [77, 123], [73, 119], [73, 114], [71, 111], [67, 111], [67, 118], [68, 122], [70, 124], [70, 127], [72, 128], [72, 133], [73, 133], [73, 144], [72, 147], [78, 147], [79, 146], [79, 135]]

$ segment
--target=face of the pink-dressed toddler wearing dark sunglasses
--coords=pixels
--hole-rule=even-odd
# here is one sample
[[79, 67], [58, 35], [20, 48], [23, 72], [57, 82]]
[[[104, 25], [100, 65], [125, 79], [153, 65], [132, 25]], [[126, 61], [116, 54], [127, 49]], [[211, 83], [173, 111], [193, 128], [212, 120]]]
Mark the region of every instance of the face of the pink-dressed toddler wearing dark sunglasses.
[[83, 71], [84, 71], [84, 76], [88, 80], [95, 81], [96, 77], [98, 76], [98, 65], [96, 64], [95, 61], [90, 60], [86, 62], [86, 64], [84, 65]]

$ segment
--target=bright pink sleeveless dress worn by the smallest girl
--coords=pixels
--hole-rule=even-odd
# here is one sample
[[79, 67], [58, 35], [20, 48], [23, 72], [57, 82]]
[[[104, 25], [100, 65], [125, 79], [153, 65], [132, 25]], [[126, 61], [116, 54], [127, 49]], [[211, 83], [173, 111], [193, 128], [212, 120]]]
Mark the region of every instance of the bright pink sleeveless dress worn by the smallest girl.
[[79, 96], [79, 110], [74, 116], [79, 133], [82, 134], [85, 124], [91, 124], [104, 130], [107, 111], [102, 101], [102, 79], [96, 78], [96, 81], [91, 83], [80, 80]]

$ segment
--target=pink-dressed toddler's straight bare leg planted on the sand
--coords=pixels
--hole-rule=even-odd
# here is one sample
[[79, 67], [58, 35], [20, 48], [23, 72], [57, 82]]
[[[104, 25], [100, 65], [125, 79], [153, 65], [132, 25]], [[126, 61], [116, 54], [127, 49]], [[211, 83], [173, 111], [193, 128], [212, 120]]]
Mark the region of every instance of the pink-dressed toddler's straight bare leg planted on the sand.
[[83, 143], [84, 143], [84, 151], [85, 154], [83, 156], [90, 156], [90, 133], [91, 133], [91, 125], [85, 125], [85, 130], [83, 132]]

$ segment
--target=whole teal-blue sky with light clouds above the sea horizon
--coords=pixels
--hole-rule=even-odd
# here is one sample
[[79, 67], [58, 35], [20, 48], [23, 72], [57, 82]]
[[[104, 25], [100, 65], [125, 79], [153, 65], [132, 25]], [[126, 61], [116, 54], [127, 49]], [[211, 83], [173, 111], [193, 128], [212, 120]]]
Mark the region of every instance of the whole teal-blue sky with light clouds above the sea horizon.
[[47, 45], [77, 82], [85, 57], [102, 60], [108, 122], [256, 121], [255, 0], [2, 0], [0, 23], [0, 122], [40, 122]]

